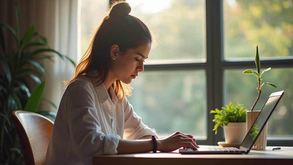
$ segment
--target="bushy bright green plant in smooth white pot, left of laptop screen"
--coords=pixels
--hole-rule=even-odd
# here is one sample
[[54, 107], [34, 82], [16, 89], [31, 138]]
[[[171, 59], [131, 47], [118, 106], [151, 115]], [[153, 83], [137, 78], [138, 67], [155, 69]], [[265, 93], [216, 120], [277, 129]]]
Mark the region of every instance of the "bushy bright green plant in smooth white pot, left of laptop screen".
[[230, 102], [221, 110], [211, 110], [210, 113], [214, 113], [212, 121], [215, 123], [215, 134], [221, 126], [224, 128], [226, 144], [241, 143], [246, 135], [246, 111], [247, 109], [239, 102], [236, 105]]

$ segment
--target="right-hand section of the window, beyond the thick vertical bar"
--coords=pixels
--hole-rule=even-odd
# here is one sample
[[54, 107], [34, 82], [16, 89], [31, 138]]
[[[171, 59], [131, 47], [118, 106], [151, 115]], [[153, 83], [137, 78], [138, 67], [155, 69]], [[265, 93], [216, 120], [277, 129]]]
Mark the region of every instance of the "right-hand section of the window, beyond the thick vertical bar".
[[[224, 60], [254, 60], [256, 46], [261, 60], [267, 60], [261, 71], [272, 70], [262, 76], [262, 82], [271, 82], [277, 88], [263, 86], [260, 100], [254, 110], [261, 110], [272, 92], [285, 91], [278, 107], [269, 120], [268, 137], [293, 137], [290, 116], [293, 114], [292, 87], [293, 63], [283, 65], [284, 60], [293, 59], [293, 1], [223, 1]], [[232, 64], [233, 65], [233, 64]], [[250, 110], [258, 94], [256, 77], [243, 75], [245, 69], [255, 66], [224, 70], [224, 102], [230, 100], [246, 105]], [[240, 67], [237, 67], [240, 68]]]

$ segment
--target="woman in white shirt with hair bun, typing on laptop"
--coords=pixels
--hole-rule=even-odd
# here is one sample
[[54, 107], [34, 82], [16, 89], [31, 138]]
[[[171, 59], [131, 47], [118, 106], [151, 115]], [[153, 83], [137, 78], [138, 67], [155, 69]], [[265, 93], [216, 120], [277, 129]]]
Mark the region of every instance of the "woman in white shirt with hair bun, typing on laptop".
[[190, 134], [156, 139], [156, 131], [142, 123], [125, 97], [131, 95], [127, 84], [144, 71], [152, 43], [147, 26], [130, 11], [123, 1], [111, 6], [66, 82], [46, 164], [92, 164], [101, 154], [198, 148]]

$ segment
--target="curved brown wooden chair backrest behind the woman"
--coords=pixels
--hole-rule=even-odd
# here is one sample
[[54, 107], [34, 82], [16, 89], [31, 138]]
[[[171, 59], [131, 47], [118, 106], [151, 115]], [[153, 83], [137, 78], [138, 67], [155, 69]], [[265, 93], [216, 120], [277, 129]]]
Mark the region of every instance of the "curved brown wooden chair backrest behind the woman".
[[44, 165], [53, 128], [52, 120], [37, 113], [11, 112], [21, 142], [25, 164]]

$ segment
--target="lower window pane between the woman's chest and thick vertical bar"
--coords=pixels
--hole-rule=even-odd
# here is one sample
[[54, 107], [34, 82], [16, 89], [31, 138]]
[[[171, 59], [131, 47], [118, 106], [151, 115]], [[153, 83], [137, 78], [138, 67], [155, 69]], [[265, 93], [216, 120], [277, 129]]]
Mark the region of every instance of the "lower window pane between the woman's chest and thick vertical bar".
[[207, 136], [204, 70], [145, 71], [132, 80], [128, 98], [144, 124], [161, 136], [176, 131]]

